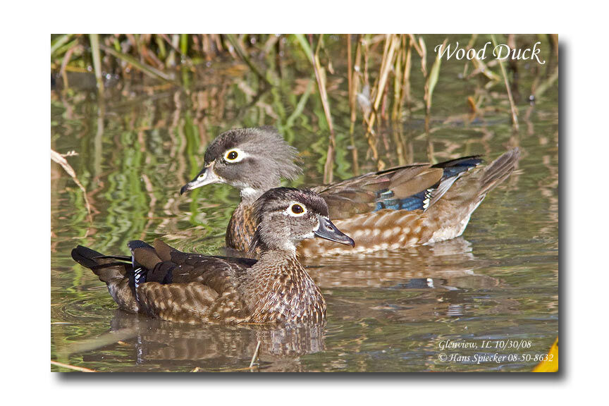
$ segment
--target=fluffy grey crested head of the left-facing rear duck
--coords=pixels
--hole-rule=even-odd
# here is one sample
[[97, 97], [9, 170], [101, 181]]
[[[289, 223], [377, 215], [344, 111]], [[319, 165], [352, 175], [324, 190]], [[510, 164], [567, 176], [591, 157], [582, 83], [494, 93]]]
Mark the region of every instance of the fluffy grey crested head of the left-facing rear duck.
[[297, 150], [283, 140], [276, 128], [235, 128], [221, 133], [205, 152], [204, 168], [182, 192], [211, 183], [228, 183], [252, 200], [281, 178], [293, 180], [302, 173]]

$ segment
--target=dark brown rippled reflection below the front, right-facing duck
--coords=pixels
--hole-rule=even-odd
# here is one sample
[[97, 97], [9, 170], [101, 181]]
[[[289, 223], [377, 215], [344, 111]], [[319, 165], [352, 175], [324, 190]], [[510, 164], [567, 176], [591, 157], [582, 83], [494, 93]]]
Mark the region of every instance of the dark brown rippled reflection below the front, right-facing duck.
[[[121, 342], [104, 345], [104, 351], [88, 348], [82, 353], [84, 361], [105, 362], [108, 351], [116, 350], [113, 354], [124, 364], [239, 371], [249, 369], [260, 343], [254, 368], [299, 371], [305, 370], [300, 365], [302, 355], [326, 350], [321, 324], [175, 324], [117, 309], [110, 331], [121, 336]], [[73, 347], [72, 352], [80, 351]]]

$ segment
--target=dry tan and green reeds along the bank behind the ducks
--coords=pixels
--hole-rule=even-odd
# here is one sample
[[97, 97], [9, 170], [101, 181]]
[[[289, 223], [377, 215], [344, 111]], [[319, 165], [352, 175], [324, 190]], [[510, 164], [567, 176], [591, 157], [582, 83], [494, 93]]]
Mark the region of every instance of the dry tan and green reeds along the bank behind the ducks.
[[[343, 97], [341, 92], [345, 90], [342, 83], [345, 77], [350, 109], [352, 159], [353, 166], [357, 169], [355, 173], [359, 173], [359, 164], [353, 135], [358, 118], [364, 128], [359, 133], [365, 136], [369, 145], [367, 156], [380, 170], [386, 167], [386, 161], [379, 156], [379, 142], [387, 145], [384, 138], [385, 123], [403, 121], [405, 116], [412, 116], [424, 109], [425, 133], [429, 134], [433, 130], [430, 127], [433, 121], [433, 92], [443, 92], [447, 81], [462, 80], [473, 87], [471, 95], [467, 97], [467, 121], [481, 118], [486, 111], [497, 108], [497, 101], [500, 104], [505, 101], [509, 105], [512, 125], [518, 130], [519, 109], [536, 97], [541, 97], [558, 78], [558, 63], [555, 63], [558, 59], [557, 35], [469, 37], [464, 53], [466, 49], [474, 51], [476, 45], [491, 41], [493, 44], [506, 42], [505, 47], [510, 49], [530, 46], [536, 42], [543, 44], [548, 49], [546, 54], [551, 61], [546, 66], [545, 73], [541, 73], [541, 68], [537, 66], [528, 67], [536, 70], [539, 77], [534, 87], [528, 90], [521, 90], [517, 80], [517, 73], [527, 63], [524, 59], [483, 61], [462, 58], [459, 61], [463, 65], [460, 78], [443, 78], [441, 54], [437, 49], [440, 45], [428, 49], [428, 43], [433, 40], [445, 47], [456, 36], [449, 37], [393, 34], [308, 35], [308, 39], [305, 35], [51, 35], [51, 79], [58, 87], [66, 90], [70, 87], [68, 73], [90, 72], [94, 73], [100, 94], [103, 94], [106, 87], [124, 88], [127, 81], [141, 82], [150, 91], [170, 86], [192, 94], [195, 91], [192, 82], [196, 82], [196, 78], [206, 69], [242, 62], [245, 63], [245, 69], [255, 77], [248, 78], [247, 85], [243, 86], [250, 87], [252, 92], [264, 92], [265, 89], [281, 87], [283, 70], [288, 63], [293, 63], [295, 68], [309, 71], [317, 85], [324, 117], [324, 123], [320, 125], [328, 133], [324, 183], [330, 183], [333, 181], [337, 159], [331, 100]], [[334, 54], [338, 54], [340, 60], [336, 56], [331, 58]], [[412, 69], [417, 63], [420, 65], [420, 76]], [[423, 85], [422, 91], [418, 88], [419, 83]], [[436, 89], [438, 83], [439, 90]], [[503, 90], [500, 90], [502, 85]], [[309, 90], [306, 93], [305, 102], [311, 92]], [[528, 95], [522, 98], [519, 96], [521, 93]], [[294, 119], [294, 116], [290, 117], [287, 124], [292, 125]], [[379, 139], [379, 135], [382, 139]], [[431, 145], [428, 155], [434, 161]], [[400, 159], [402, 161], [407, 161], [403, 155]]]

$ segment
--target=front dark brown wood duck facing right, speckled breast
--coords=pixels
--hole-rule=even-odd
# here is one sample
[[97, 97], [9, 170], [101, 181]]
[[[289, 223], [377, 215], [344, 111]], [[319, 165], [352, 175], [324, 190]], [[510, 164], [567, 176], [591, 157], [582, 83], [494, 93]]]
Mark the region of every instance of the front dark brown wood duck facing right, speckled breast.
[[354, 245], [333, 225], [324, 199], [310, 190], [271, 189], [252, 205], [257, 225], [250, 250], [259, 260], [187, 254], [160, 240], [131, 241], [130, 257], [72, 250], [92, 269], [121, 309], [187, 323], [316, 324], [326, 302], [296, 259], [296, 246], [315, 236]]

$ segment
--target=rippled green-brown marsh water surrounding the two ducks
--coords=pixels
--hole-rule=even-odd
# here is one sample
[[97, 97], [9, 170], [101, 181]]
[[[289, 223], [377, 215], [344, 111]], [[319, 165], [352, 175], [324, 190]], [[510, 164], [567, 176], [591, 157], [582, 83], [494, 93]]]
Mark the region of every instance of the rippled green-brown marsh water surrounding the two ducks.
[[[426, 38], [430, 48], [435, 40]], [[328, 96], [337, 180], [378, 164], [369, 159], [361, 116], [350, 136], [345, 49], [333, 41]], [[549, 60], [547, 44], [542, 51]], [[271, 62], [257, 63], [271, 70]], [[279, 63], [269, 72], [272, 87], [228, 58], [178, 73], [181, 87], [134, 73], [109, 80], [100, 96], [92, 75], [79, 73], [69, 89], [51, 90], [51, 147], [76, 153], [66, 159], [91, 209], [51, 162], [51, 358], [95, 371], [530, 371], [559, 325], [556, 63], [520, 63], [514, 131], [503, 81], [486, 88], [479, 78], [462, 79], [463, 61], [443, 61], [426, 133], [424, 78], [413, 61], [410, 109], [377, 132], [382, 165], [471, 154], [490, 160], [516, 146], [522, 159], [460, 238], [305, 262], [328, 303], [325, 326], [190, 326], [126, 314], [92, 271], [73, 262], [76, 245], [127, 254], [133, 239], [221, 252], [238, 191], [179, 190], [199, 171], [207, 144], [229, 128], [276, 125], [304, 162], [304, 175], [290, 185], [321, 183], [328, 128], [314, 75], [306, 58], [287, 51]], [[529, 102], [531, 87], [544, 83], [543, 95]], [[474, 117], [467, 97], [480, 93], [486, 96]]]

